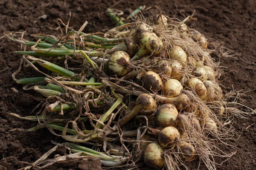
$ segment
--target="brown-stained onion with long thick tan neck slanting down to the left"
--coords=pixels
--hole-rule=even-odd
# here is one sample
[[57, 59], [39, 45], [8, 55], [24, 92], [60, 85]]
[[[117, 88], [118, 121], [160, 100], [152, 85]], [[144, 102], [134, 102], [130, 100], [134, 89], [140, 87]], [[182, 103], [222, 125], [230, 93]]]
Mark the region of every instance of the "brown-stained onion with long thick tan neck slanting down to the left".
[[141, 94], [136, 99], [136, 105], [134, 106], [134, 108], [117, 122], [117, 126], [124, 125], [126, 122], [134, 118], [134, 116], [139, 113], [151, 114], [156, 110], [157, 106], [153, 97], [148, 94]]

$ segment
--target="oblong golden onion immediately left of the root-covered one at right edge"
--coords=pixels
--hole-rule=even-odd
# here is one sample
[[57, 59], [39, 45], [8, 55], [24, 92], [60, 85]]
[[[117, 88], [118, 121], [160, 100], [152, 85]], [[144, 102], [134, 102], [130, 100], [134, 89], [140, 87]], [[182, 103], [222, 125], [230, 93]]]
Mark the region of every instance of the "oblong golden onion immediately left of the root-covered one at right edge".
[[207, 99], [207, 88], [200, 79], [191, 78], [186, 84], [189, 88], [195, 91], [201, 100]]

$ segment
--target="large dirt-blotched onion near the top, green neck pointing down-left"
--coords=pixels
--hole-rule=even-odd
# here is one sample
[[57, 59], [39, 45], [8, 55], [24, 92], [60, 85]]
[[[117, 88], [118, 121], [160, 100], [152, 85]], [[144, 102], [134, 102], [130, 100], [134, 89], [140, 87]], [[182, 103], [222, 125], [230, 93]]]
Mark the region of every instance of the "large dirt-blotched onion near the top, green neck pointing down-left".
[[137, 60], [145, 54], [160, 54], [163, 43], [156, 34], [150, 31], [144, 31], [139, 33], [139, 51], [134, 55], [132, 60]]

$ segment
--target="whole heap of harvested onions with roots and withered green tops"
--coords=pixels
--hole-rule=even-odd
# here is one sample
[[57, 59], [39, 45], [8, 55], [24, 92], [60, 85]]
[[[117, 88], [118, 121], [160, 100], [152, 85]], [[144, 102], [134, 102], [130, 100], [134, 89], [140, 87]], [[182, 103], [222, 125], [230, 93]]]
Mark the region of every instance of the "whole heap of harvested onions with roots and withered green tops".
[[[225, 137], [232, 136], [232, 126], [227, 128], [229, 123], [223, 121], [229, 119], [227, 100], [232, 95], [224, 96], [218, 84], [217, 64], [210, 56], [215, 48], [207, 49], [207, 38], [190, 29], [187, 19], [178, 22], [160, 12], [148, 22], [135, 20], [113, 28], [104, 37], [70, 30], [57, 36], [63, 37], [59, 41], [35, 34], [46, 41], [38, 43], [7, 35], [31, 46], [33, 51], [17, 51], [29, 54], [23, 56], [29, 66], [37, 67], [36, 62], [52, 71], [20, 80], [15, 79], [18, 71], [13, 74], [17, 83], [26, 84], [24, 89], [45, 97], [36, 98], [45, 101], [36, 116], [23, 118], [40, 124], [23, 131], [44, 127], [54, 134], [52, 129], [63, 131], [65, 140], [93, 144], [91, 148], [97, 149], [66, 143], [66, 148], [77, 153], [72, 159], [87, 155], [101, 159], [105, 166], [143, 158], [154, 169], [178, 165], [187, 169], [185, 162], [198, 158], [215, 169], [216, 149], [228, 157], [221, 155], [224, 152], [215, 143], [227, 144]], [[235, 115], [245, 114], [228, 108]]]

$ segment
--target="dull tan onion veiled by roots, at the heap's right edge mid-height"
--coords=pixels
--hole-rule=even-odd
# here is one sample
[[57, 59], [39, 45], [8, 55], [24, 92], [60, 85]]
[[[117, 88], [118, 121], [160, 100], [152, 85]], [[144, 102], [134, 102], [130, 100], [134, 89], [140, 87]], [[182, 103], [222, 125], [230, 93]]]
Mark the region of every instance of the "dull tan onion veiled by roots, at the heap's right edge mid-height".
[[204, 81], [204, 85], [207, 88], [207, 100], [213, 101], [222, 99], [222, 90], [216, 82], [206, 80]]

